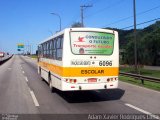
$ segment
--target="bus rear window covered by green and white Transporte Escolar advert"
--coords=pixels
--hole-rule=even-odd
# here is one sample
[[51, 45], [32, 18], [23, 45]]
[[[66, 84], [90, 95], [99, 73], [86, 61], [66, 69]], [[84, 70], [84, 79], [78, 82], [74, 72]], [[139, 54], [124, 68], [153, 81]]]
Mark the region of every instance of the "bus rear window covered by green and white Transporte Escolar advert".
[[71, 32], [73, 54], [111, 55], [114, 48], [114, 34], [105, 32]]

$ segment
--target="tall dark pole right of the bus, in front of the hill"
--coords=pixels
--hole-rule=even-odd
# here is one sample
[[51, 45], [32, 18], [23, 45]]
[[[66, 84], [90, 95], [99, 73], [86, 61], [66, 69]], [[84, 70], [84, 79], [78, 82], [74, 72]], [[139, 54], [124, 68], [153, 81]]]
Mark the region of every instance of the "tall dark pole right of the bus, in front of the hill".
[[134, 62], [135, 62], [135, 72], [138, 73], [137, 67], [137, 38], [136, 38], [136, 0], [133, 0], [133, 11], [134, 11]]

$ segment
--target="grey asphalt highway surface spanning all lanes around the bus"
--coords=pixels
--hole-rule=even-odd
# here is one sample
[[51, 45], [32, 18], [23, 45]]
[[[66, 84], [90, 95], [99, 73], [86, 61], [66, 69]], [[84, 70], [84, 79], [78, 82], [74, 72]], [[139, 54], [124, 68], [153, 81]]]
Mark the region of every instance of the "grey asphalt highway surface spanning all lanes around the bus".
[[0, 119], [6, 113], [23, 119], [81, 120], [95, 114], [148, 114], [156, 119], [160, 92], [119, 82], [115, 90], [51, 93], [37, 73], [36, 60], [15, 55], [0, 66], [0, 113]]

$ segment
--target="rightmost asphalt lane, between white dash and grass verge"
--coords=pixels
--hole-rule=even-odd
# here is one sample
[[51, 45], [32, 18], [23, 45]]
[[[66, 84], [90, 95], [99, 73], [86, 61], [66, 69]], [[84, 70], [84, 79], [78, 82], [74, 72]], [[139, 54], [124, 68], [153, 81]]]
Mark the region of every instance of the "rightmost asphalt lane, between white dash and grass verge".
[[120, 82], [119, 88], [125, 90], [121, 101], [138, 106], [153, 114], [160, 114], [160, 92]]

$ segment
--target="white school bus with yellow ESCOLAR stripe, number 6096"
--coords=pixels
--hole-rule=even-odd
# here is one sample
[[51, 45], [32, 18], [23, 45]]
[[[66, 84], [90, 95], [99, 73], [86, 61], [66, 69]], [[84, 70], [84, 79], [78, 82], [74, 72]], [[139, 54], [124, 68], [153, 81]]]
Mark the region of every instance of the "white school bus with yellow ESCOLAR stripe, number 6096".
[[38, 45], [38, 73], [53, 92], [118, 87], [118, 32], [66, 28]]

